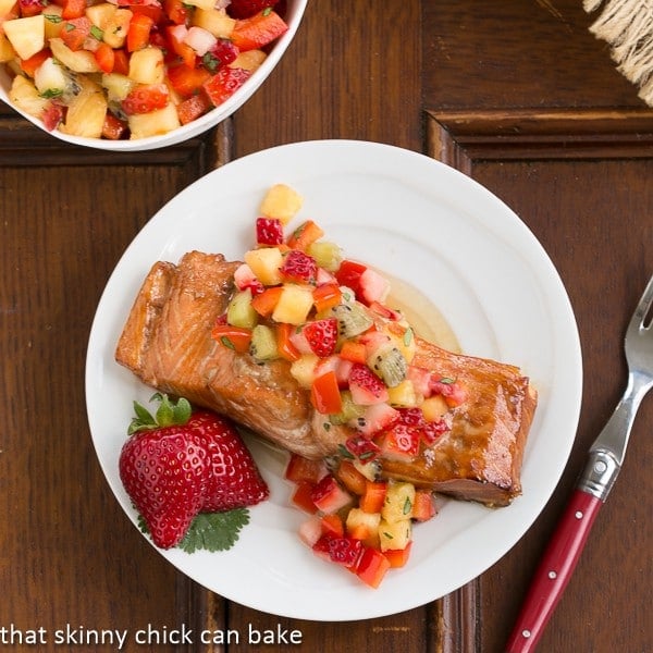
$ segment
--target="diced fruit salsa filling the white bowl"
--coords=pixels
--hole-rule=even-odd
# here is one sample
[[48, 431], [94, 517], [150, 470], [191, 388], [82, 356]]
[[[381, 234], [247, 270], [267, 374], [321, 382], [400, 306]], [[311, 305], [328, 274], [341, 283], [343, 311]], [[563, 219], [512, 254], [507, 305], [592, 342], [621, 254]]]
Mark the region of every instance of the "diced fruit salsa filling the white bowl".
[[47, 130], [165, 134], [230, 98], [287, 30], [283, 0], [0, 0], [10, 100]]

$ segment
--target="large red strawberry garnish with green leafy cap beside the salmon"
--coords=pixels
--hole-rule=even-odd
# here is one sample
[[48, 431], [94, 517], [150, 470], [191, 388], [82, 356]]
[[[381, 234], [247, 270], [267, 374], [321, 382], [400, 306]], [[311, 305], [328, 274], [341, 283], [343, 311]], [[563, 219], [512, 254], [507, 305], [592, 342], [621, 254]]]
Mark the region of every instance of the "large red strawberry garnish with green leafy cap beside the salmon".
[[134, 402], [136, 417], [119, 470], [157, 546], [180, 544], [201, 513], [245, 508], [268, 497], [268, 485], [232, 422], [193, 411], [183, 398], [152, 398], [160, 402], [155, 417]]

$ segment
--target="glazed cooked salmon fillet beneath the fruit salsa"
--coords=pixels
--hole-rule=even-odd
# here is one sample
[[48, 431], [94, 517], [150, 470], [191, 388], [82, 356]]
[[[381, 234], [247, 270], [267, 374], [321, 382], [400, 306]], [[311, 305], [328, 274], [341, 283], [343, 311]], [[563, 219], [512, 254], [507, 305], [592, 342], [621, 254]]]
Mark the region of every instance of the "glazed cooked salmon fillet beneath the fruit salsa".
[[[120, 336], [115, 359], [145, 384], [226, 415], [272, 443], [308, 458], [334, 455], [350, 435], [328, 424], [289, 364], [256, 362], [222, 346], [212, 328], [234, 292], [241, 263], [190, 251], [178, 264], [152, 266]], [[415, 365], [459, 380], [465, 403], [451, 430], [415, 460], [382, 459], [381, 475], [486, 505], [521, 492], [526, 438], [537, 405], [516, 367], [463, 356], [418, 340]]]

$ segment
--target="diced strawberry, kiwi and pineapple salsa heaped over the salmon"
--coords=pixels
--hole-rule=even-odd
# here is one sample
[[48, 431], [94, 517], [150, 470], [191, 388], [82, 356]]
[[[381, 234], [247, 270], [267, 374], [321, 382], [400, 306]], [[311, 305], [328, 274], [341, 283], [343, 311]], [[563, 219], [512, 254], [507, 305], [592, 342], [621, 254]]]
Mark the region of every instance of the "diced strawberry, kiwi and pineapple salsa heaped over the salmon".
[[412, 523], [436, 512], [430, 491], [381, 479], [379, 461], [432, 447], [466, 393], [414, 364], [415, 333], [387, 305], [382, 274], [344, 258], [312, 220], [287, 229], [300, 207], [288, 186], [269, 189], [212, 336], [260, 365], [286, 360], [323, 428], [344, 433], [338, 456], [292, 455], [285, 478], [293, 503], [310, 515], [301, 540], [375, 588], [406, 564]]

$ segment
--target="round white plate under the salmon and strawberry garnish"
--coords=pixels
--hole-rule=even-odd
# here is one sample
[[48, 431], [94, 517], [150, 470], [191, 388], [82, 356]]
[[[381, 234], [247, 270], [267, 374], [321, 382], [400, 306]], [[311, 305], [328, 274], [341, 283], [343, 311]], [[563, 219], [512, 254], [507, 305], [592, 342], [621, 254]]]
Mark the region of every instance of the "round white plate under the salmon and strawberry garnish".
[[[464, 174], [391, 146], [324, 140], [281, 146], [211, 172], [163, 207], [111, 275], [88, 345], [86, 393], [97, 455], [125, 513], [118, 475], [132, 401], [151, 395], [113, 360], [121, 328], [150, 264], [193, 248], [238, 259], [250, 246], [266, 189], [286, 183], [345, 254], [417, 285], [444, 313], [464, 352], [518, 365], [540, 403], [526, 447], [523, 494], [488, 509], [448, 501], [415, 529], [409, 564], [371, 590], [306, 549], [303, 515], [280, 480], [283, 460], [255, 446], [269, 502], [225, 553], [160, 552], [206, 588], [249, 607], [335, 621], [395, 614], [482, 574], [526, 532], [551, 496], [574, 442], [581, 355], [565, 288], [547, 255], [502, 201]], [[171, 588], [172, 591], [172, 588]]]

